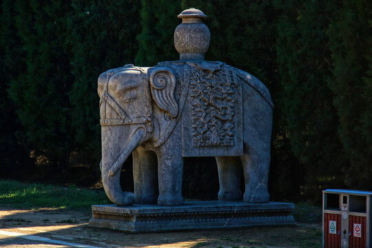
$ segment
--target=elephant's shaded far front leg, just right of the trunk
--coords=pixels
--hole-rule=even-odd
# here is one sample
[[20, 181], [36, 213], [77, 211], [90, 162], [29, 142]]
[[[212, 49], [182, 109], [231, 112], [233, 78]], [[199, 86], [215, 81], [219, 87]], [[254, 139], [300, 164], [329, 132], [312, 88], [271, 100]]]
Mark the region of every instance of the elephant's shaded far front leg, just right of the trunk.
[[135, 203], [156, 203], [158, 199], [158, 168], [155, 152], [138, 147], [133, 152]]

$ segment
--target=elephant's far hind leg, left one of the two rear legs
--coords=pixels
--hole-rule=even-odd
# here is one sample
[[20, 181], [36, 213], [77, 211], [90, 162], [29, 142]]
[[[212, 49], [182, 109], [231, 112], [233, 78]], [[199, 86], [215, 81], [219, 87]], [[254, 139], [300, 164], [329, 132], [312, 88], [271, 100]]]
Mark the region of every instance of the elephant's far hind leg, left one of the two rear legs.
[[242, 164], [239, 157], [220, 156], [216, 157], [216, 162], [220, 181], [218, 200], [242, 200], [240, 190]]

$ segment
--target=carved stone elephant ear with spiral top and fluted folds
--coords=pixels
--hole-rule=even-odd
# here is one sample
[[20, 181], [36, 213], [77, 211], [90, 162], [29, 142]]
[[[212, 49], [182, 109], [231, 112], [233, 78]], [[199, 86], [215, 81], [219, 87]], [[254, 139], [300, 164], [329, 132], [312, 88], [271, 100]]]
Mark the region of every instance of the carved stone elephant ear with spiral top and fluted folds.
[[174, 98], [176, 88], [176, 76], [169, 68], [156, 68], [149, 76], [152, 97], [162, 110], [170, 116], [176, 117], [178, 105]]

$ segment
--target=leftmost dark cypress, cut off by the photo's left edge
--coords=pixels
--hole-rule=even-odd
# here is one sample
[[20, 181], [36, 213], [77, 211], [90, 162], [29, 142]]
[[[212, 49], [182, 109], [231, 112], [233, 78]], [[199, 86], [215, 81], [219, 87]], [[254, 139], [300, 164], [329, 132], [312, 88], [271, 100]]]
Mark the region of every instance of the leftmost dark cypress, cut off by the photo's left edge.
[[14, 105], [8, 97], [8, 87], [25, 68], [24, 53], [15, 28], [14, 1], [1, 2], [0, 23], [0, 175], [3, 178], [23, 176], [19, 172], [28, 172], [32, 161], [28, 158], [22, 140], [21, 126], [14, 111]]

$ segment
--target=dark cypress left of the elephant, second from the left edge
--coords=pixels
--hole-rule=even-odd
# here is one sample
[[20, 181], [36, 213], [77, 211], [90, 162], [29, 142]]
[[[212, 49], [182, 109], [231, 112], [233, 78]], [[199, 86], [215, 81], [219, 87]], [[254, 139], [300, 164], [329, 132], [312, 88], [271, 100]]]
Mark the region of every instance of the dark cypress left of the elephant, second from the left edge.
[[15, 10], [26, 68], [14, 75], [10, 98], [32, 155], [39, 164], [52, 164], [58, 177], [68, 163], [71, 143], [67, 93], [72, 78], [65, 25], [70, 2], [16, 1]]

